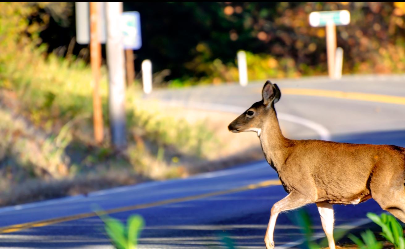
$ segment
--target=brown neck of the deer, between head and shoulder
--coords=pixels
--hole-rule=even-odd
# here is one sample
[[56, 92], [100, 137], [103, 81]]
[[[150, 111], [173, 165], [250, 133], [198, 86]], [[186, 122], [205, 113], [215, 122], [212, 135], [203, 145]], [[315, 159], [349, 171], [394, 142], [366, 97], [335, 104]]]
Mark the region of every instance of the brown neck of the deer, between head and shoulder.
[[267, 162], [278, 172], [287, 158], [287, 144], [289, 139], [281, 133], [280, 125], [275, 111], [263, 123], [259, 136], [262, 150]]

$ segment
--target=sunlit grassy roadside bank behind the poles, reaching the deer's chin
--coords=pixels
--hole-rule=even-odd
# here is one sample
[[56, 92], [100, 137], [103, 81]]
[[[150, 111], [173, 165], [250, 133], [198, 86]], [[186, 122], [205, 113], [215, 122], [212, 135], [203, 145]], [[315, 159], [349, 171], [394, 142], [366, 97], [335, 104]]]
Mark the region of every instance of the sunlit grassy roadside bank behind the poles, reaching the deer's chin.
[[[108, 142], [105, 68], [101, 81], [105, 142], [96, 145], [90, 69], [54, 55], [37, 59], [35, 64], [26, 62], [26, 73], [8, 68], [9, 74], [0, 79], [0, 134], [5, 138], [0, 142], [0, 205], [186, 177], [262, 158], [260, 148], [245, 156], [249, 150], [244, 155], [240, 151], [249, 143], [227, 140], [232, 134], [226, 124], [234, 115], [162, 107], [143, 100], [136, 85], [126, 95], [128, 148], [115, 151]], [[254, 136], [248, 140], [259, 145]], [[108, 177], [111, 172], [116, 181]], [[104, 185], [102, 177], [107, 177]], [[86, 178], [89, 183], [84, 184]], [[89, 186], [92, 181], [94, 187]], [[44, 191], [46, 187], [52, 190]]]

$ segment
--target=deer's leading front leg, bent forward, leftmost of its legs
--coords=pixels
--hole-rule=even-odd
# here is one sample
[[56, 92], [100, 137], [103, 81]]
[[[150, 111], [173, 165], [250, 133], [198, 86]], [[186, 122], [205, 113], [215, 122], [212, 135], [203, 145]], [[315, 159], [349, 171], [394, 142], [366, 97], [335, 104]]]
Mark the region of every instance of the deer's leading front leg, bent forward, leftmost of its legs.
[[271, 208], [270, 220], [269, 225], [267, 226], [266, 236], [264, 236], [264, 243], [266, 243], [267, 249], [274, 248], [273, 233], [278, 214], [283, 211], [297, 209], [312, 202], [312, 200], [310, 200], [306, 196], [303, 196], [302, 194], [299, 194], [297, 192], [290, 192], [288, 196], [273, 205], [273, 207]]

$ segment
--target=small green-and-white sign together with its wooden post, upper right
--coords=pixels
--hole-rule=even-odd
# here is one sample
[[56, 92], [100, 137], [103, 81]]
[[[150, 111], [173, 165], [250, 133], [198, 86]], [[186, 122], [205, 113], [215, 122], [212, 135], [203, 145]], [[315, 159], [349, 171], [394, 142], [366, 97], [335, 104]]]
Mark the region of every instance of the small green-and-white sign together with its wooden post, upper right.
[[[326, 53], [328, 56], [328, 73], [331, 79], [335, 79], [336, 55], [336, 26], [350, 23], [349, 11], [320, 11], [309, 14], [309, 24], [312, 27], [326, 26]], [[343, 51], [342, 51], [343, 53]], [[343, 56], [343, 54], [342, 54]]]

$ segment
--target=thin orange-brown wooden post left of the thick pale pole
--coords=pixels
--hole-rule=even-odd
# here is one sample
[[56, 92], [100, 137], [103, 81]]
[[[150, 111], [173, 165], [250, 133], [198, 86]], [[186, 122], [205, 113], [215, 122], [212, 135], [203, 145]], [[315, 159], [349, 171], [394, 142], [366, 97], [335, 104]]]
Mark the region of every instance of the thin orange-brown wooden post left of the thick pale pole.
[[100, 3], [90, 2], [90, 63], [93, 74], [93, 127], [94, 140], [100, 144], [103, 141], [103, 121], [100, 97]]

